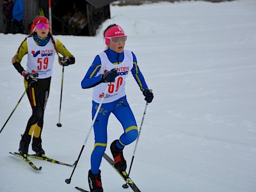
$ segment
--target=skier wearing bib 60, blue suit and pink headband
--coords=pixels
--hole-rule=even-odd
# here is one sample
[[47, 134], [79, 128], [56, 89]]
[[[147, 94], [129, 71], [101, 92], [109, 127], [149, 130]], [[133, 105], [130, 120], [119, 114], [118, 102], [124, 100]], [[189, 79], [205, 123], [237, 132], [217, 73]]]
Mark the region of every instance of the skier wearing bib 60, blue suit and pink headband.
[[88, 173], [90, 191], [101, 192], [102, 182], [100, 179], [100, 163], [107, 146], [107, 125], [108, 118], [113, 113], [122, 124], [124, 133], [118, 140], [111, 143], [110, 149], [114, 157], [115, 167], [120, 171], [125, 171], [127, 164], [123, 156], [123, 149], [138, 137], [138, 127], [131, 108], [125, 95], [125, 78], [132, 72], [132, 75], [140, 90], [145, 96], [145, 100], [152, 102], [153, 93], [148, 90], [140, 68], [137, 65], [136, 56], [132, 51], [125, 50], [127, 36], [124, 30], [112, 24], [104, 31], [105, 43], [108, 46], [103, 52], [98, 54], [91, 67], [86, 72], [82, 88], [92, 88], [92, 117], [94, 118], [100, 100], [106, 90], [108, 92], [102, 102], [99, 114], [93, 125], [95, 134], [95, 145], [91, 156], [91, 170]]

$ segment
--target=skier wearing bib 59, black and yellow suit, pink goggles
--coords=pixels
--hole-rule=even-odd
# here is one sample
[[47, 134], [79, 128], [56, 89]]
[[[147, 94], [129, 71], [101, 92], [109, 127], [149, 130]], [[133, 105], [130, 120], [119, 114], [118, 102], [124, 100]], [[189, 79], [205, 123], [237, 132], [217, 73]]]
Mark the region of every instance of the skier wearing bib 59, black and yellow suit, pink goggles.
[[[32, 150], [37, 156], [42, 156], [45, 151], [42, 148], [42, 129], [44, 125], [44, 111], [49, 97], [54, 56], [60, 52], [60, 65], [67, 66], [75, 63], [74, 56], [67, 48], [54, 38], [50, 31], [49, 20], [46, 17], [37, 16], [33, 20], [33, 32], [25, 38], [12, 58], [13, 66], [24, 77], [28, 99], [32, 108], [32, 116], [22, 139], [19, 152], [23, 156], [28, 154], [29, 143], [33, 135]], [[28, 54], [26, 70], [20, 65], [22, 58]]]

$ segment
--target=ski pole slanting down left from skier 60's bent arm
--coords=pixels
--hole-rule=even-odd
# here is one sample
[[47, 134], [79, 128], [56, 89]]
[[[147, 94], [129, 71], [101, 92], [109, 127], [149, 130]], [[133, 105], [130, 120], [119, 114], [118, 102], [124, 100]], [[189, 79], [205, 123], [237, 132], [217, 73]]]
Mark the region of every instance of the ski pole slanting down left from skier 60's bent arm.
[[[109, 84], [110, 84], [110, 83], [109, 83]], [[99, 111], [100, 111], [100, 107], [101, 107], [101, 105], [102, 105], [102, 102], [103, 102], [103, 100], [105, 99], [106, 93], [107, 93], [107, 91], [108, 91], [109, 84], [108, 84], [108, 86], [106, 87], [106, 90], [105, 90], [105, 92], [104, 92], [104, 95], [102, 95], [102, 98], [101, 98], [101, 100], [100, 100], [100, 104], [99, 104], [99, 106], [98, 106], [98, 108], [97, 108], [97, 111], [96, 111], [96, 113], [95, 113], [95, 115], [94, 115], [94, 118], [93, 118], [93, 120], [92, 120], [92, 125], [91, 125], [91, 127], [90, 127], [90, 129], [89, 129], [89, 131], [88, 131], [88, 134], [87, 134], [87, 136], [86, 136], [86, 139], [84, 140], [84, 145], [83, 145], [83, 147], [81, 148], [80, 154], [79, 154], [79, 156], [78, 156], [78, 158], [77, 158], [77, 160], [76, 160], [76, 165], [75, 165], [75, 167], [74, 167], [74, 169], [73, 169], [73, 171], [72, 171], [72, 173], [71, 173], [71, 176], [70, 176], [69, 179], [66, 179], [66, 180], [65, 180], [65, 182], [66, 182], [67, 184], [70, 184], [70, 182], [71, 182], [72, 175], [73, 175], [74, 171], [76, 170], [77, 163], [78, 163], [78, 161], [79, 161], [79, 159], [80, 159], [80, 157], [81, 157], [81, 154], [82, 154], [82, 152], [83, 152], [83, 150], [84, 150], [84, 146], [85, 146], [85, 144], [86, 144], [86, 142], [87, 142], [87, 140], [88, 140], [88, 138], [89, 138], [90, 132], [92, 131], [94, 122], [95, 122], [95, 120], [96, 120], [96, 118], [97, 118], [97, 116], [98, 116], [98, 113], [99, 113]]]

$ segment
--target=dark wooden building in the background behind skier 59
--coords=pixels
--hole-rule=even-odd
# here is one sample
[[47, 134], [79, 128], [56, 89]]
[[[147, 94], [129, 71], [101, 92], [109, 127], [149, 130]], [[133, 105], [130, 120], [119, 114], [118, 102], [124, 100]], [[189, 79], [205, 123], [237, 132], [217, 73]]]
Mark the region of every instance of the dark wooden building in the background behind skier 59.
[[[94, 36], [97, 28], [110, 19], [109, 4], [114, 0], [52, 0], [52, 33], [54, 35]], [[23, 0], [24, 33], [30, 33], [30, 26], [36, 15], [49, 18], [48, 0]], [[0, 33], [5, 33], [3, 1], [0, 0]], [[15, 33], [15, 29], [13, 29]]]

